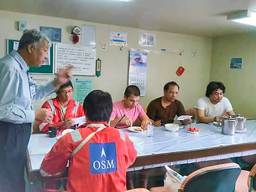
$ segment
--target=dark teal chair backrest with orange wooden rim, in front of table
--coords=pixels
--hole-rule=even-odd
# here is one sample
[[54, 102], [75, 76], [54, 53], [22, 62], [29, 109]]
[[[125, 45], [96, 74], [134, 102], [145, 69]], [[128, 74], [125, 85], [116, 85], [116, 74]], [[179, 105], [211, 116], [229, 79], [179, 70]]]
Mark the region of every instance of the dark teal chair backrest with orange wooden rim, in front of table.
[[241, 168], [236, 163], [209, 166], [192, 172], [180, 186], [182, 192], [233, 192]]

